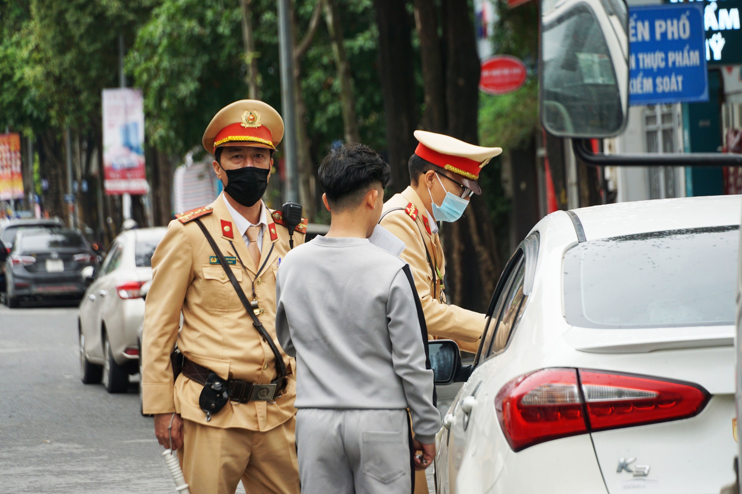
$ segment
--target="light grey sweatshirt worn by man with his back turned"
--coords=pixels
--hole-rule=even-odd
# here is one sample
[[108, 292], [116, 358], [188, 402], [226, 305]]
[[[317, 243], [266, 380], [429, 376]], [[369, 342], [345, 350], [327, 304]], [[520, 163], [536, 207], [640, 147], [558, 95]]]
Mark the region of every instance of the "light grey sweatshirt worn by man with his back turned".
[[433, 371], [404, 261], [367, 239], [315, 237], [280, 263], [276, 335], [296, 358], [297, 408], [410, 408], [432, 443]]

